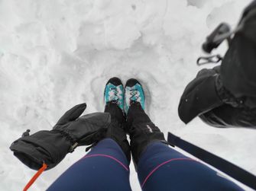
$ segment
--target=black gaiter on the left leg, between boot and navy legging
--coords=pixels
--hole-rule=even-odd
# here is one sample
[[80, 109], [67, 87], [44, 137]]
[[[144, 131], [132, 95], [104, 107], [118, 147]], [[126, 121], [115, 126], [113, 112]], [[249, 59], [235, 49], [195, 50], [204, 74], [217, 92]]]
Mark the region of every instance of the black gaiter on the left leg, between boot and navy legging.
[[126, 119], [116, 103], [107, 103], [105, 113], [110, 113], [111, 124], [106, 132], [106, 138], [112, 138], [124, 151], [128, 161], [131, 161], [130, 145], [125, 132]]

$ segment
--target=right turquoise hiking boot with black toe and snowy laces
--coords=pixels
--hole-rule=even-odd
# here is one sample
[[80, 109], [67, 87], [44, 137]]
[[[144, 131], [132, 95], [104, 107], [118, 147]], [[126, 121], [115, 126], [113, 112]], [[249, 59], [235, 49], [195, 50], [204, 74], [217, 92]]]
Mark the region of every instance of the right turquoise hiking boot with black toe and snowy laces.
[[143, 88], [138, 80], [131, 78], [125, 84], [125, 114], [128, 114], [129, 107], [132, 103], [141, 103], [145, 109], [145, 97]]

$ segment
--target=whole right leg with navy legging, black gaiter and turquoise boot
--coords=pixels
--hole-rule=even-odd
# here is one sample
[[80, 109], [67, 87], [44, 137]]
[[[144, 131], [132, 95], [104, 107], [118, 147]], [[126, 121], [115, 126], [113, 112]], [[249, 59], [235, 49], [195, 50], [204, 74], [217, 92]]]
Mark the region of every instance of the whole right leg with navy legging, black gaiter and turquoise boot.
[[[125, 96], [128, 91], [142, 89], [135, 80], [128, 81], [127, 86]], [[144, 100], [144, 94], [141, 92], [135, 94], [137, 97], [131, 92], [132, 96], [125, 101], [131, 153], [143, 190], [242, 190], [206, 165], [164, 144], [164, 134], [143, 110], [144, 102], [140, 100]]]

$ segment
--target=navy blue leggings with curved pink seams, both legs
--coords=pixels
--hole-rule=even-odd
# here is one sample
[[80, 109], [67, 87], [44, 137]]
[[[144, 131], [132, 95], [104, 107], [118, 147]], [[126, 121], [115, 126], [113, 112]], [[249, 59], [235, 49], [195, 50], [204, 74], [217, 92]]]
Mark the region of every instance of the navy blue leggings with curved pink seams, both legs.
[[[118, 144], [105, 138], [47, 190], [131, 190], [129, 162]], [[160, 142], [148, 145], [138, 162], [143, 190], [242, 190], [215, 170]]]

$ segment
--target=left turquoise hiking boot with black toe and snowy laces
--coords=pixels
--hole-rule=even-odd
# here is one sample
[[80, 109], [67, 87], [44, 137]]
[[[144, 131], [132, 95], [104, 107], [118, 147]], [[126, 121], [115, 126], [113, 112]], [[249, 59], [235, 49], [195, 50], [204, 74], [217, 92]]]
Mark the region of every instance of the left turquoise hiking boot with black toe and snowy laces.
[[124, 86], [119, 78], [111, 78], [105, 85], [104, 101], [107, 103], [116, 103], [118, 107], [124, 110]]

